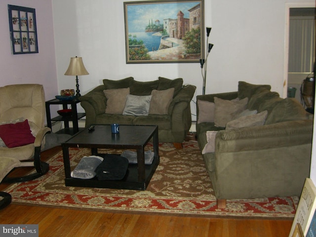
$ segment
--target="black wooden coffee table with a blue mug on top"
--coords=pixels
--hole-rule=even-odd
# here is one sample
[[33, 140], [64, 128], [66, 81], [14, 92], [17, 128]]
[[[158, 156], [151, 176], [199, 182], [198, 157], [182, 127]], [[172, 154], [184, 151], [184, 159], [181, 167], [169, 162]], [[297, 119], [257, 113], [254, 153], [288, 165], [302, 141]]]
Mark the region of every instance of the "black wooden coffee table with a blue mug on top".
[[[111, 125], [94, 125], [94, 131], [85, 128], [72, 136], [62, 144], [65, 185], [91, 188], [131, 189], [145, 190], [153, 177], [159, 164], [158, 154], [158, 126], [157, 125], [120, 125], [119, 134], [112, 134]], [[154, 160], [152, 164], [145, 164], [144, 148], [150, 139], [153, 138]], [[69, 148], [91, 148], [91, 154], [98, 154], [98, 149], [122, 149], [136, 150], [137, 164], [128, 164], [128, 171], [123, 180], [100, 181], [93, 179], [72, 178]], [[104, 154], [103, 154], [104, 155]]]

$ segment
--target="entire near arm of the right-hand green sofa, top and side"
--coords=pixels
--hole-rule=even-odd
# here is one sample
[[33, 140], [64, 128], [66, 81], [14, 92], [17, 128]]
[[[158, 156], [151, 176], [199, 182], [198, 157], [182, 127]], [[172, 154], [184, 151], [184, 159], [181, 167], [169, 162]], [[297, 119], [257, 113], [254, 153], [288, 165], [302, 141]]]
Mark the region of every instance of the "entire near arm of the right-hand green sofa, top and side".
[[207, 156], [218, 199], [299, 196], [310, 173], [313, 120], [222, 130]]

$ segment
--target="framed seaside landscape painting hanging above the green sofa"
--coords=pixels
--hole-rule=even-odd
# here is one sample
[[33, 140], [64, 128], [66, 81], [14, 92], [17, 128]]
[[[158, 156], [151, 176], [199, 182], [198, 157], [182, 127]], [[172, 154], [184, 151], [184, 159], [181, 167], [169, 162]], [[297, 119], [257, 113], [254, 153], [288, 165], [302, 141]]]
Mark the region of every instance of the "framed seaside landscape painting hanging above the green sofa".
[[192, 63], [204, 58], [203, 0], [124, 2], [126, 63]]

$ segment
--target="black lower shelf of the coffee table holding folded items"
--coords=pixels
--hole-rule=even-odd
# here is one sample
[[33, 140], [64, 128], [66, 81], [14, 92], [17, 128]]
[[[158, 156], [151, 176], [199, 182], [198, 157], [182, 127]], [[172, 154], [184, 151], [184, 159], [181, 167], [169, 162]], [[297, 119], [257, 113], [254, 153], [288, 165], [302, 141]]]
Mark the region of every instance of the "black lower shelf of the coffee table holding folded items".
[[[102, 156], [102, 154], [98, 154]], [[108, 188], [108, 189], [128, 189], [128, 190], [146, 190], [155, 170], [159, 164], [159, 157], [154, 158], [152, 164], [145, 165], [145, 181], [138, 181], [138, 166], [137, 164], [128, 164], [128, 169], [125, 177], [122, 180], [98, 180], [93, 179], [77, 179], [66, 178], [66, 186], [87, 187], [87, 188]]]

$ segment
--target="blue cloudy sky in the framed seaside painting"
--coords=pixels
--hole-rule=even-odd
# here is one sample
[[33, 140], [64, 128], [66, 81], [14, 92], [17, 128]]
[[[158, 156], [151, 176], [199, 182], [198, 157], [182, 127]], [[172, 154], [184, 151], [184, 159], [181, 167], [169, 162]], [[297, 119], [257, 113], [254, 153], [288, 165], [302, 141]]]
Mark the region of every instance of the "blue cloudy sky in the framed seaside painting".
[[199, 1], [174, 2], [174, 3], [151, 3], [151, 4], [130, 4], [126, 6], [128, 32], [144, 32], [145, 27], [156, 20], [163, 24], [163, 19], [176, 19], [179, 11], [189, 18], [188, 9], [196, 6]]

